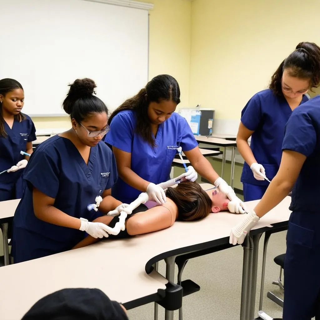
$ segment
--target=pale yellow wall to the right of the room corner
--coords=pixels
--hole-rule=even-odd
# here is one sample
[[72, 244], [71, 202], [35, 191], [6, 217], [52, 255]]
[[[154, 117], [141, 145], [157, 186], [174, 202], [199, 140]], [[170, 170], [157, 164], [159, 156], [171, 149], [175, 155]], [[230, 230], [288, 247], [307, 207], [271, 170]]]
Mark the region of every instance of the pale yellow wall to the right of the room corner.
[[195, 0], [191, 12], [189, 104], [220, 119], [239, 119], [299, 42], [320, 44], [317, 0]]

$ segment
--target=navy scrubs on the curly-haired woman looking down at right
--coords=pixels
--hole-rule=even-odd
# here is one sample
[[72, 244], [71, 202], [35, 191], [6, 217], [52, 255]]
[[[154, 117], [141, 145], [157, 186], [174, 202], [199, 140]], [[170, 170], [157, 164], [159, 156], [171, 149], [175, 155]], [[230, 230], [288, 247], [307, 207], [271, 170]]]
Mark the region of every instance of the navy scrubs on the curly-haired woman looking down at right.
[[[303, 95], [300, 104], [308, 101]], [[266, 176], [272, 180], [279, 170], [282, 156], [284, 127], [292, 110], [284, 97], [277, 97], [267, 89], [256, 93], [241, 112], [241, 122], [246, 128], [254, 131], [250, 148], [257, 160], [266, 170]], [[266, 180], [256, 180], [252, 170], [244, 163], [241, 182], [253, 185], [268, 185]]]

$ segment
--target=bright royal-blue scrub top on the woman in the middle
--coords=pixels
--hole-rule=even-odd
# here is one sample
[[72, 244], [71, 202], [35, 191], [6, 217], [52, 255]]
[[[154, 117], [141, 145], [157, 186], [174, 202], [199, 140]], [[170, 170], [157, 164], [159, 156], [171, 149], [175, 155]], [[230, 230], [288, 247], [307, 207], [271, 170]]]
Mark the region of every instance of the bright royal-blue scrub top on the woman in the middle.
[[[181, 146], [189, 151], [198, 143], [185, 118], [172, 113], [159, 125], [153, 148], [136, 132], [136, 113], [131, 110], [119, 112], [111, 121], [105, 142], [120, 150], [131, 153], [131, 170], [142, 179], [155, 184], [169, 180], [172, 161]], [[141, 191], [132, 188], [121, 178], [112, 188], [112, 195], [124, 203], [131, 203]]]

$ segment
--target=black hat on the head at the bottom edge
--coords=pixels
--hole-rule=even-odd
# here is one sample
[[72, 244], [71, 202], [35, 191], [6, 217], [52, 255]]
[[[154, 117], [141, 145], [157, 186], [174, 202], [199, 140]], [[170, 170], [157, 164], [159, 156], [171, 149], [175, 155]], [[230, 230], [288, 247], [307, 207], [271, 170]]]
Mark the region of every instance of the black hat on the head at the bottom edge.
[[36, 302], [21, 320], [128, 320], [99, 289], [62, 289]]

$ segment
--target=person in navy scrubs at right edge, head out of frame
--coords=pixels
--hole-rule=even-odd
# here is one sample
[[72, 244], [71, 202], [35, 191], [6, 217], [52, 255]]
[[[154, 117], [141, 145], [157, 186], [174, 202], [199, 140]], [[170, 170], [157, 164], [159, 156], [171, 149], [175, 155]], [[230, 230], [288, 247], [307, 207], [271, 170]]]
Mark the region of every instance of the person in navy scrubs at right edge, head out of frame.
[[243, 243], [250, 229], [293, 187], [284, 260], [283, 319], [319, 320], [320, 96], [292, 112], [285, 126], [282, 151], [279, 171], [254, 210], [232, 228], [230, 243]]

